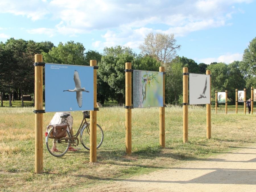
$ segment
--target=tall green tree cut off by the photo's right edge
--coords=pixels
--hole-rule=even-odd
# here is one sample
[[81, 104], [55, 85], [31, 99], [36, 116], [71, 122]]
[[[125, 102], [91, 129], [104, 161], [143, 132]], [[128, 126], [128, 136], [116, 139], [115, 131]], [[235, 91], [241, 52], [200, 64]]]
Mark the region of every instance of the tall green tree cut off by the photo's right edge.
[[246, 81], [246, 88], [256, 87], [256, 37], [249, 43], [243, 51], [243, 60], [239, 63]]

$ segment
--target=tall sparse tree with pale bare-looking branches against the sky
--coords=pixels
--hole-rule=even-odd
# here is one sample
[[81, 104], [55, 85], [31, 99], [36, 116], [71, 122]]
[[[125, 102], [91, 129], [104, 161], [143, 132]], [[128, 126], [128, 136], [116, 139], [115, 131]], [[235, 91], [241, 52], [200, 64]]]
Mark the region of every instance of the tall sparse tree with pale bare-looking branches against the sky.
[[149, 33], [143, 44], [139, 45], [139, 49], [143, 54], [150, 55], [154, 59], [161, 62], [164, 66], [176, 56], [177, 50], [181, 45], [176, 44], [174, 34]]

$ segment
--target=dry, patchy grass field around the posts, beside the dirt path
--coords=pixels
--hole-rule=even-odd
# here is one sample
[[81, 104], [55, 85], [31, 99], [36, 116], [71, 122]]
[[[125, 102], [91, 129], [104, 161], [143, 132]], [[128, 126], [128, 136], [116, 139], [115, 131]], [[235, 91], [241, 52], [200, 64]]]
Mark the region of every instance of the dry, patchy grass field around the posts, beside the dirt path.
[[[43, 138], [43, 174], [34, 174], [35, 141], [33, 108], [0, 109], [0, 191], [79, 191], [154, 170], [171, 168], [187, 160], [206, 158], [255, 142], [254, 114], [212, 111], [212, 138], [206, 139], [206, 108], [189, 106], [189, 142], [183, 143], [183, 108], [165, 109], [165, 143], [159, 145], [159, 108], [132, 110], [132, 155], [125, 153], [125, 109], [100, 108], [97, 123], [104, 141], [97, 162], [79, 144], [78, 152], [56, 158]], [[54, 113], [45, 113], [43, 135]], [[77, 130], [82, 112], [72, 112]], [[47, 186], [47, 187], [46, 187]]]

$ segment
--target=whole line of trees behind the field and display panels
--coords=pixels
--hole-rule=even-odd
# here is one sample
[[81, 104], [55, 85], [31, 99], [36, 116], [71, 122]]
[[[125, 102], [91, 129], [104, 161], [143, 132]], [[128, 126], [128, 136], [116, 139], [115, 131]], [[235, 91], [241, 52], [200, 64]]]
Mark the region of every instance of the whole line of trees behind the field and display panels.
[[[105, 47], [103, 53], [84, 48], [81, 43], [73, 41], [54, 46], [51, 42], [34, 42], [10, 38], [0, 42], [0, 93], [1, 106], [5, 96], [9, 105], [14, 100], [22, 100], [23, 95], [34, 96], [34, 55], [42, 54], [45, 63], [72, 65], [90, 65], [90, 60], [97, 60], [97, 102], [104, 104], [116, 100], [122, 105], [125, 101], [125, 63], [131, 62], [132, 69], [159, 71], [165, 67], [165, 101], [167, 104], [182, 104], [183, 67], [189, 73], [205, 74], [210, 70], [211, 96], [215, 90], [228, 90], [228, 98], [234, 101], [235, 89], [248, 90], [256, 86], [256, 38], [244, 50], [242, 61], [233, 63], [197, 64], [193, 59], [177, 55], [181, 45], [176, 43], [173, 34], [148, 34], [139, 46], [141, 53], [124, 46]], [[44, 78], [43, 78], [44, 79]]]

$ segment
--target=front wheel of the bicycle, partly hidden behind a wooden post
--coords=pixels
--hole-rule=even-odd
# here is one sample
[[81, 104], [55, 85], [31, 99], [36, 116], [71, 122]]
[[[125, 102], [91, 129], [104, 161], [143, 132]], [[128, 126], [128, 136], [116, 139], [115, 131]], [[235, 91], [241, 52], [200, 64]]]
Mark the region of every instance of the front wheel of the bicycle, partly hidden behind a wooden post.
[[[96, 143], [97, 143], [97, 149], [100, 147], [100, 145], [103, 142], [103, 130], [100, 127], [100, 125], [97, 124], [96, 126]], [[84, 148], [90, 150], [90, 123], [88, 123], [88, 126], [85, 124], [82, 128], [81, 134], [80, 134], [80, 141]]]

